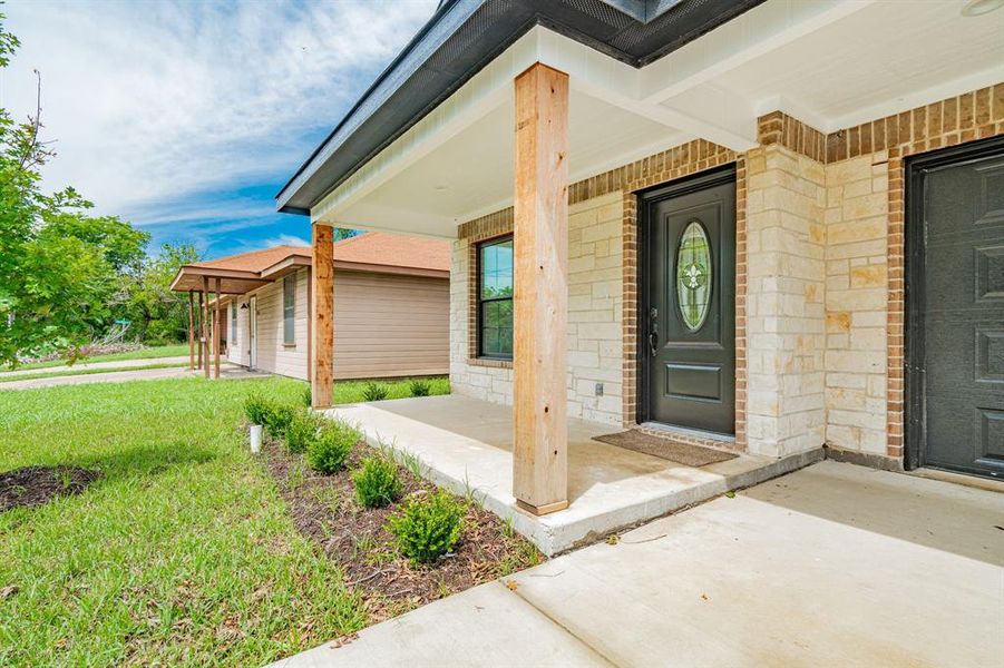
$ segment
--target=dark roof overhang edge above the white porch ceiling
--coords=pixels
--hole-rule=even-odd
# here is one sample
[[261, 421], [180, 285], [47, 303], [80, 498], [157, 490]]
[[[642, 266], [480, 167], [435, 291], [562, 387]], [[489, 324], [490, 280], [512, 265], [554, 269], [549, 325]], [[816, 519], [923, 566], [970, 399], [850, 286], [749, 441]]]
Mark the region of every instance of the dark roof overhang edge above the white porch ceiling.
[[332, 188], [534, 29], [643, 67], [764, 0], [447, 0], [276, 195], [309, 214]]

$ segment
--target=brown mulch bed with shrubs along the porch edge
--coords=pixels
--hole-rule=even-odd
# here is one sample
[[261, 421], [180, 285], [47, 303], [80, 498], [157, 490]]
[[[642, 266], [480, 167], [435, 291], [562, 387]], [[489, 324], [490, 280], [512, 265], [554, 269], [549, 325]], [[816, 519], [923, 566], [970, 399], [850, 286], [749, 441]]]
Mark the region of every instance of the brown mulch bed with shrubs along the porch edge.
[[401, 498], [388, 508], [363, 508], [355, 499], [349, 470], [373, 450], [360, 441], [334, 475], [312, 471], [301, 455], [279, 443], [262, 449], [263, 462], [279, 483], [296, 528], [341, 567], [347, 584], [362, 596], [371, 621], [489, 582], [544, 560], [520, 536], [507, 531], [496, 515], [468, 503], [464, 534], [454, 553], [433, 564], [413, 564], [394, 547], [388, 518], [407, 499], [436, 490], [398, 466]]

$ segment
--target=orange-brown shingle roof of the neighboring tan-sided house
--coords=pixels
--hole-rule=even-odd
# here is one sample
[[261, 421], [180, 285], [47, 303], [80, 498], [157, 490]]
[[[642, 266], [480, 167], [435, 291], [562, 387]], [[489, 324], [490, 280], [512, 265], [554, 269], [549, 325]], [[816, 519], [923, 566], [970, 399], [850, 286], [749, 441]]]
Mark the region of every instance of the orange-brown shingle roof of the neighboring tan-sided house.
[[[310, 264], [309, 246], [273, 246], [184, 265], [170, 288], [179, 292], [199, 291], [203, 276], [208, 276], [212, 278], [211, 292], [215, 287], [215, 278], [220, 277], [223, 282], [222, 292], [243, 294]], [[367, 232], [334, 244], [334, 265], [335, 268], [446, 277], [450, 269], [450, 244], [446, 240]]]

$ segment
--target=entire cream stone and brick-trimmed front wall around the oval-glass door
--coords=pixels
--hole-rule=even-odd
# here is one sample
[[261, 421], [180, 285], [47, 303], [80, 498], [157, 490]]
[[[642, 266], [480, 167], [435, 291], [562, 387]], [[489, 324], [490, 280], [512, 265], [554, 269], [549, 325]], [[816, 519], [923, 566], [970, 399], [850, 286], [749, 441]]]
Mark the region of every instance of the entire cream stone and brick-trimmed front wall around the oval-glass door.
[[[734, 163], [737, 448], [783, 455], [826, 442], [900, 458], [904, 159], [1004, 134], [1004, 84], [829, 135], [780, 111], [761, 117], [758, 129], [761, 146], [745, 155], [695, 140], [569, 187], [569, 240], [579, 225], [576, 216], [613, 215], [615, 207], [613, 197], [596, 207], [578, 205], [612, 194], [622, 198], [618, 256], [595, 255], [611, 247], [603, 240], [616, 238], [612, 226], [604, 239], [586, 242], [592, 249], [573, 245], [582, 272], [576, 289], [583, 292], [575, 299], [579, 315], [569, 318], [569, 415], [635, 421], [636, 193]], [[475, 281], [472, 243], [511, 228], [511, 209], [461, 225], [450, 288], [454, 386], [499, 403], [511, 403], [511, 364], [475, 358], [467, 286]], [[594, 293], [591, 285], [585, 298], [586, 267], [601, 258], [601, 283], [613, 279], [607, 263], [621, 262], [620, 320], [606, 311], [616, 308], [616, 301], [607, 304], [598, 296], [605, 287]], [[569, 288], [569, 315], [574, 295]], [[604, 330], [604, 336], [573, 341], [572, 330], [578, 333], [578, 325], [594, 317], [618, 323], [620, 340], [607, 336], [608, 328], [587, 327]], [[614, 377], [608, 353], [615, 345], [622, 348], [620, 385], [604, 380], [606, 401], [591, 401], [594, 376]], [[620, 414], [612, 391], [621, 393]]]

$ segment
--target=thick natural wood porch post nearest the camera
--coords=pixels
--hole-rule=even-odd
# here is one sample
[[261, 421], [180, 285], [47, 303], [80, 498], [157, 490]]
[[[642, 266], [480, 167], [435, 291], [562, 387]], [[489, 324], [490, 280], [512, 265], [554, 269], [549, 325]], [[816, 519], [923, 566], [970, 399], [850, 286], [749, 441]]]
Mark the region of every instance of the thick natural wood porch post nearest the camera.
[[516, 78], [513, 494], [535, 514], [568, 505], [568, 75]]

